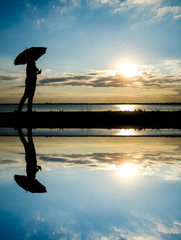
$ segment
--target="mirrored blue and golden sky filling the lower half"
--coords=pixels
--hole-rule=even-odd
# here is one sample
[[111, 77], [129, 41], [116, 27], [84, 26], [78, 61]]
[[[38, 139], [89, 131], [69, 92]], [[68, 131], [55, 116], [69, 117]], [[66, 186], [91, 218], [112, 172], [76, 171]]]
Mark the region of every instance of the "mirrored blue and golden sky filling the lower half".
[[45, 194], [15, 183], [26, 171], [24, 149], [18, 137], [0, 138], [1, 239], [181, 238], [180, 138], [34, 137], [34, 144]]

